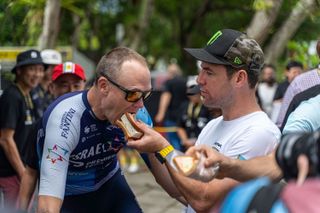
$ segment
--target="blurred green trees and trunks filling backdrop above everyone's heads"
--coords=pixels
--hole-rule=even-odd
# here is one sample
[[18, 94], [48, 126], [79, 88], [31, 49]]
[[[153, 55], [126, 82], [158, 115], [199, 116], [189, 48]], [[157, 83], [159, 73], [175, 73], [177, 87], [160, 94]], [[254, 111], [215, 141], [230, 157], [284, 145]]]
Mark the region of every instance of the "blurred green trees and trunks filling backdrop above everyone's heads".
[[1, 76], [10, 79], [16, 55], [35, 47], [59, 50], [90, 79], [101, 56], [119, 45], [145, 56], [153, 76], [171, 62], [192, 75], [196, 63], [183, 48], [232, 28], [255, 38], [282, 78], [289, 60], [305, 70], [317, 65], [319, 8], [319, 0], [0, 0]]

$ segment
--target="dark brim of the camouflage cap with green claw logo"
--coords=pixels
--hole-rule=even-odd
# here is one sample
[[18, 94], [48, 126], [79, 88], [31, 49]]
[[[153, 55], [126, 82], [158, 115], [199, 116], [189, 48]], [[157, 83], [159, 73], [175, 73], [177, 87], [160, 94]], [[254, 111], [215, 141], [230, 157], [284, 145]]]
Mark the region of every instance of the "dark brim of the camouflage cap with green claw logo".
[[225, 59], [219, 56], [213, 56], [203, 48], [184, 48], [184, 50], [199, 61], [204, 61], [211, 64], [230, 65], [230, 63]]

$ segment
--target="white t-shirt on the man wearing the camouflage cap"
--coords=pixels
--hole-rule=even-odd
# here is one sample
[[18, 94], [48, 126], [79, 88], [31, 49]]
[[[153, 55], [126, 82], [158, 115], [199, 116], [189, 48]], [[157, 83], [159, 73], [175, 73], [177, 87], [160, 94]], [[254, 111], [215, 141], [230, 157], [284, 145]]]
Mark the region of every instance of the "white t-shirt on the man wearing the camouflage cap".
[[[196, 145], [206, 144], [231, 158], [250, 159], [269, 154], [279, 143], [278, 127], [259, 111], [224, 121], [220, 116], [210, 121], [200, 133]], [[195, 212], [188, 206], [187, 213]]]

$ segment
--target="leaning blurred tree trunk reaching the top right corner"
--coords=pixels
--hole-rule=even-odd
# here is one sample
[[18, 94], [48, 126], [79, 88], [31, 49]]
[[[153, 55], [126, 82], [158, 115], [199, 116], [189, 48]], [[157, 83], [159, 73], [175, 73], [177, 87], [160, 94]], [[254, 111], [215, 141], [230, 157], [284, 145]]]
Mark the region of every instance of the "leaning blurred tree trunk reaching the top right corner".
[[265, 63], [274, 64], [285, 50], [288, 40], [296, 33], [306, 17], [317, 9], [317, 0], [300, 0], [290, 16], [272, 37], [265, 49]]

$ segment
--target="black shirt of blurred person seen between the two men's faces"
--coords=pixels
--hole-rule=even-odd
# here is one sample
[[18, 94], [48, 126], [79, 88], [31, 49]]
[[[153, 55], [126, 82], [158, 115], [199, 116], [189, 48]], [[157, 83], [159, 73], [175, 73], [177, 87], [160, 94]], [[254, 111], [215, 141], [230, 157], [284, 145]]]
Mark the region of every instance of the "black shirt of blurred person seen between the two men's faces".
[[164, 91], [170, 92], [171, 100], [166, 112], [166, 120], [176, 122], [179, 118], [179, 108], [181, 104], [188, 100], [186, 79], [183, 77], [175, 77], [169, 79], [165, 83]]

